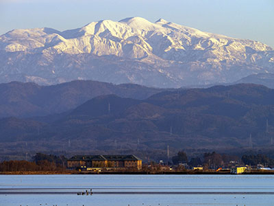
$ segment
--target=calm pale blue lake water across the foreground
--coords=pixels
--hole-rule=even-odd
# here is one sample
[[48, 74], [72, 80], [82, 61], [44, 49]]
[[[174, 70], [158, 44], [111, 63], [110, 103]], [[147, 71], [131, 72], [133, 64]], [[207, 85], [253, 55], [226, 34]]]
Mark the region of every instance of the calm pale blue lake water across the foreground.
[[[92, 196], [77, 195], [90, 191]], [[274, 205], [271, 175], [1, 175], [1, 206]]]

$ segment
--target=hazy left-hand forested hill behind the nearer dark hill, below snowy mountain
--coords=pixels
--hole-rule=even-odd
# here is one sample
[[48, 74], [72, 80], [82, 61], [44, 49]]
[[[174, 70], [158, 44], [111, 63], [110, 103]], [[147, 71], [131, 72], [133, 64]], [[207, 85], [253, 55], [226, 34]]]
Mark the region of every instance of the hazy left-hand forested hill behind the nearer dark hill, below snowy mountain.
[[143, 100], [163, 91], [137, 84], [77, 80], [53, 86], [10, 82], [0, 84], [0, 117], [32, 117], [68, 111], [99, 95]]

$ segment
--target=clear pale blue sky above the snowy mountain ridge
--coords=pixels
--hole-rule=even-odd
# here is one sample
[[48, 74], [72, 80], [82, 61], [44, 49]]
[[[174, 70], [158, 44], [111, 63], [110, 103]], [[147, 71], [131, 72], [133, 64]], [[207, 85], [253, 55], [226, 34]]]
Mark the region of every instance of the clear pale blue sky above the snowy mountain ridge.
[[0, 0], [0, 34], [14, 28], [67, 30], [92, 21], [141, 16], [204, 32], [248, 38], [274, 48], [273, 0]]

